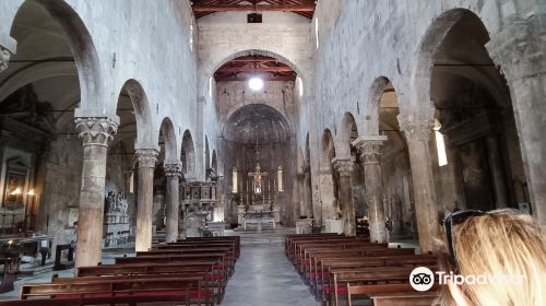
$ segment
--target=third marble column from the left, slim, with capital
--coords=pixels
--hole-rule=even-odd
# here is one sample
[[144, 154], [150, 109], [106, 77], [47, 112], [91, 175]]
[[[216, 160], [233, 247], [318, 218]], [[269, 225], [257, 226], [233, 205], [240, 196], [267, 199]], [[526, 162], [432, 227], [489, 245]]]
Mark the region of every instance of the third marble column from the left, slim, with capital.
[[167, 177], [167, 192], [166, 192], [166, 227], [167, 235], [166, 243], [176, 243], [178, 239], [178, 187], [180, 185], [179, 178], [182, 169], [179, 164], [165, 164], [165, 176]]

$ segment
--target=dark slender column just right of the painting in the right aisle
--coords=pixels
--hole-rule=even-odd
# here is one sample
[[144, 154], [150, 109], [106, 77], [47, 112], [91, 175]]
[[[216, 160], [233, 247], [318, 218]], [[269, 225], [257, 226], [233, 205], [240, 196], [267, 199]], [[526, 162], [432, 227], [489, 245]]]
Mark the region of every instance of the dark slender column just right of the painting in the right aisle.
[[496, 136], [489, 136], [486, 139], [487, 157], [492, 178], [492, 188], [495, 192], [495, 204], [497, 209], [506, 208], [508, 204], [507, 185], [505, 180], [505, 164], [499, 152], [499, 144]]

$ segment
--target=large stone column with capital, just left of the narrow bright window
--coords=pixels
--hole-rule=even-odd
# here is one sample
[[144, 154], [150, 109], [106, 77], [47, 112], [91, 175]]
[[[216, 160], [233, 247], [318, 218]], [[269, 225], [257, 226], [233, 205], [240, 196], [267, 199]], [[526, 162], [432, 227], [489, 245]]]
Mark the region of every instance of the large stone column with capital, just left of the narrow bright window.
[[438, 236], [439, 229], [429, 146], [435, 109], [428, 110], [424, 111], [426, 114], [399, 115], [400, 129], [407, 139], [415, 198], [415, 216], [423, 252], [432, 250], [434, 239]]

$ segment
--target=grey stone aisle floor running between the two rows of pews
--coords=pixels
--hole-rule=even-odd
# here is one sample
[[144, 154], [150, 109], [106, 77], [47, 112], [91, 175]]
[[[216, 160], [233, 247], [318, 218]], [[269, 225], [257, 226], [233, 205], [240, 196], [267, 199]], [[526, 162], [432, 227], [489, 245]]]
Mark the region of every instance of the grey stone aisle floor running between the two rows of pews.
[[241, 256], [222, 306], [254, 305], [319, 305], [286, 259], [284, 244], [241, 246]]

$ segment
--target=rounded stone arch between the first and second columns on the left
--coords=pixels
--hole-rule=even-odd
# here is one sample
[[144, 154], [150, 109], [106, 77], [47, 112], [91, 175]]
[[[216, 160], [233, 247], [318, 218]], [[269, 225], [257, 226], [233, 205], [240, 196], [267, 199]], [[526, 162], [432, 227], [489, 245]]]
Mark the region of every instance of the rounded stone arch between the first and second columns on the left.
[[157, 137], [153, 133], [152, 111], [144, 89], [136, 80], [130, 79], [126, 81], [118, 96], [124, 94], [131, 99], [136, 119], [136, 142], [134, 148], [157, 148]]

